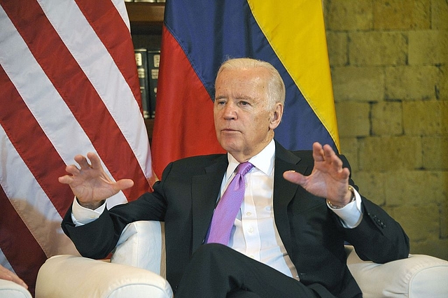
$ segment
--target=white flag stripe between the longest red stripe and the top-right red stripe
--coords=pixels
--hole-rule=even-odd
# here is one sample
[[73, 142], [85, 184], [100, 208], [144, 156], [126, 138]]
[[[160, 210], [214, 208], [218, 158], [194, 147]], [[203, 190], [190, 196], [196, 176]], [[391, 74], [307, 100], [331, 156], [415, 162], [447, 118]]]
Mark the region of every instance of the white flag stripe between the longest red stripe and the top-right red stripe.
[[140, 113], [139, 105], [108, 50], [74, 1], [40, 1], [39, 4], [116, 120], [145, 176], [151, 176], [148, 141], [143, 141], [148, 139], [144, 119], [135, 117]]

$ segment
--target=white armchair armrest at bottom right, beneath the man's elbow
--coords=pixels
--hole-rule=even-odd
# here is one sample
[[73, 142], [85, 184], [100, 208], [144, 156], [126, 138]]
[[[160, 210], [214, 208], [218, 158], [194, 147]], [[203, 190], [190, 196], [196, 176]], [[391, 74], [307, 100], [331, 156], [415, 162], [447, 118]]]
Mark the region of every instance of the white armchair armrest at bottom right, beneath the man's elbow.
[[363, 297], [443, 298], [448, 295], [448, 262], [428, 255], [375, 264], [346, 246], [347, 265]]

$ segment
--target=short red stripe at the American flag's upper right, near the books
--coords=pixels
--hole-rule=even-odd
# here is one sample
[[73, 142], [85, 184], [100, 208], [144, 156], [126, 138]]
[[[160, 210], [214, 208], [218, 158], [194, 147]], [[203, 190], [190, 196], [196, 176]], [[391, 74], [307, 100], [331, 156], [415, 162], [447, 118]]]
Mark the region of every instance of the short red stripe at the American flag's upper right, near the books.
[[[92, 6], [91, 2], [92, 0], [76, 0], [78, 7], [87, 18], [87, 22], [92, 26], [102, 43], [106, 45], [113, 61], [130, 86], [134, 97], [140, 99], [135, 59], [132, 55], [123, 55], [124, 52], [134, 52], [129, 28], [127, 28], [120, 13], [110, 0], [95, 0], [97, 6]], [[97, 9], [98, 6], [102, 9]], [[138, 100], [138, 103], [141, 106], [141, 100]]]

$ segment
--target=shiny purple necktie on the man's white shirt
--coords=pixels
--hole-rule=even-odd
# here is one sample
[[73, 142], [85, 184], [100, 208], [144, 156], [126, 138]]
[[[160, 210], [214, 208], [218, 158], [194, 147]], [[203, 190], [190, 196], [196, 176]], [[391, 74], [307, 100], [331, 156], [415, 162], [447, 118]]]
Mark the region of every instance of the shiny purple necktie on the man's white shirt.
[[235, 218], [244, 199], [244, 175], [253, 168], [250, 162], [243, 162], [237, 167], [237, 174], [225, 190], [223, 197], [216, 206], [211, 219], [209, 238], [207, 243], [221, 243], [228, 245], [230, 232], [232, 231]]

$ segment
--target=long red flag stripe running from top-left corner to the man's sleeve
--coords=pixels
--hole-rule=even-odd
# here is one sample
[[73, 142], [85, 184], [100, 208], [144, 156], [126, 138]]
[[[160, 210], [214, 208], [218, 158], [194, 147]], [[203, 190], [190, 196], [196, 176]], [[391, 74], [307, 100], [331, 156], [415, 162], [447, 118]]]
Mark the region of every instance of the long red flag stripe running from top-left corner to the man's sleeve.
[[[61, 94], [76, 120], [92, 141], [94, 148], [111, 175], [118, 178], [132, 178], [134, 187], [125, 190], [128, 199], [135, 199], [141, 190], [149, 187], [137, 159], [129, 144], [116, 125], [104, 102], [73, 59], [64, 42], [48, 21], [43, 10], [34, 0], [26, 0], [20, 6], [14, 2], [5, 3], [3, 8], [20, 35], [27, 43], [52, 85]], [[30, 26], [27, 20], [33, 20]], [[45, 38], [41, 38], [41, 32]], [[49, 53], [57, 53], [49, 55]], [[64, 67], [54, 63], [54, 59], [64, 61]], [[67, 80], [66, 78], [71, 78]]]

